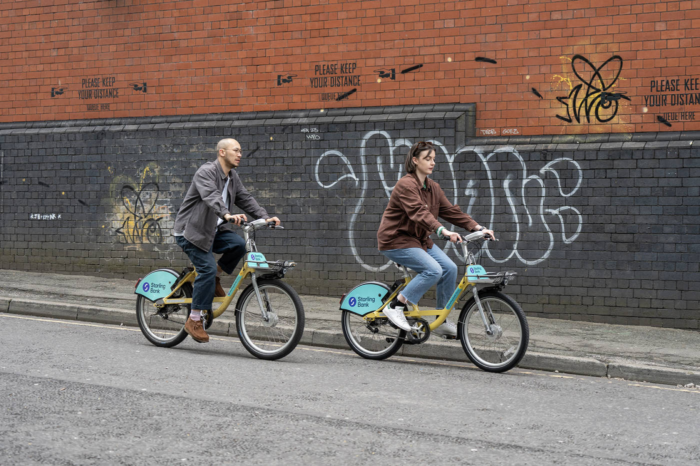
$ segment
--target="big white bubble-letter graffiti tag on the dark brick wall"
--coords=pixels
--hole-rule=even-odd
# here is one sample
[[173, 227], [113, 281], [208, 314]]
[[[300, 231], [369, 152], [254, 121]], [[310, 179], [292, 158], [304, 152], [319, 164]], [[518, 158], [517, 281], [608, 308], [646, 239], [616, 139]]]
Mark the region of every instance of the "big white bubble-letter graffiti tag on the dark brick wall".
[[[369, 141], [372, 138], [383, 138], [386, 141], [388, 149], [386, 153], [374, 156], [373, 163], [367, 161], [369, 155], [367, 147], [370, 146]], [[506, 262], [511, 258], [516, 258], [526, 265], [538, 264], [547, 259], [552, 253], [556, 241], [561, 241], [565, 244], [572, 243], [579, 236], [582, 230], [583, 218], [574, 206], [564, 204], [562, 200], [566, 200], [578, 192], [583, 180], [583, 174], [580, 165], [573, 159], [568, 157], [560, 157], [551, 162], [547, 162], [539, 170], [533, 172], [531, 167], [525, 163], [521, 155], [511, 146], [503, 146], [490, 153], [485, 153], [484, 150], [477, 146], [465, 146], [459, 148], [456, 153], [449, 153], [447, 148], [440, 142], [435, 140], [428, 141], [435, 146], [436, 153], [442, 155], [447, 160], [447, 169], [449, 171], [448, 184], [451, 184], [451, 192], [454, 196], [451, 199], [452, 204], [458, 204], [461, 197], [458, 190], [458, 173], [455, 170], [455, 162], [457, 157], [464, 157], [465, 162], [478, 162], [486, 174], [488, 187], [482, 190], [478, 189], [478, 183], [474, 179], [466, 181], [463, 195], [469, 213], [478, 198], [488, 199], [486, 204], [490, 204], [490, 213], [488, 221], [484, 219], [482, 225], [496, 225], [498, 223], [514, 224], [516, 231], [514, 240], [510, 243], [510, 252], [505, 258], [496, 259], [488, 250], [486, 244], [486, 254], [493, 262]], [[402, 156], [396, 157], [395, 153], [399, 148], [410, 148], [412, 141], [408, 139], [393, 140], [386, 131], [376, 130], [365, 134], [360, 143], [359, 167], [358, 170], [353, 169], [351, 159], [346, 157], [339, 150], [326, 150], [321, 157], [318, 157], [314, 167], [314, 176], [316, 183], [321, 188], [330, 189], [337, 183], [349, 181], [352, 183], [351, 188], [357, 191], [357, 202], [353, 213], [348, 220], [348, 239], [349, 246], [356, 261], [364, 268], [370, 271], [382, 271], [389, 267], [390, 262], [379, 267], [372, 267], [367, 264], [367, 261], [361, 257], [360, 248], [358, 247], [356, 236], [363, 232], [363, 227], [358, 225], [364, 211], [364, 203], [367, 198], [367, 193], [370, 192], [370, 176], [375, 174], [379, 177], [381, 187], [384, 188], [386, 197], [391, 196], [393, 186], [402, 176]], [[382, 147], [383, 144], [380, 144]], [[372, 144], [377, 146], [377, 144]], [[496, 160], [496, 159], [499, 160]], [[516, 167], [508, 171], [507, 176], [500, 179], [494, 174], [493, 167], [500, 167], [505, 158], [510, 160], [512, 167]], [[324, 159], [328, 159], [323, 162]], [[321, 167], [343, 167], [339, 174], [335, 174], [335, 180], [325, 180], [321, 174]], [[565, 175], [566, 174], [566, 175]], [[324, 178], [324, 180], [322, 180]], [[566, 183], [564, 182], [566, 178]], [[554, 187], [552, 187], [554, 183]], [[566, 185], [566, 187], [565, 187]], [[497, 211], [497, 206], [502, 205], [501, 199], [507, 202], [507, 211], [505, 213]], [[564, 205], [561, 205], [564, 204]], [[502, 210], [502, 209], [501, 209]], [[496, 218], [498, 213], [498, 218]], [[378, 219], [376, 219], [378, 221]], [[542, 227], [538, 227], [540, 224]], [[556, 224], [556, 228], [552, 227]], [[545, 241], [542, 241], [543, 248], [538, 251], [528, 250], [521, 251], [521, 243], [524, 242], [528, 234], [528, 230], [539, 230], [538, 235], [541, 236], [545, 230]], [[559, 230], [559, 236], [555, 232]], [[454, 248], [454, 245], [450, 245]], [[459, 254], [458, 250], [456, 253]], [[503, 250], [503, 248], [499, 248]]]

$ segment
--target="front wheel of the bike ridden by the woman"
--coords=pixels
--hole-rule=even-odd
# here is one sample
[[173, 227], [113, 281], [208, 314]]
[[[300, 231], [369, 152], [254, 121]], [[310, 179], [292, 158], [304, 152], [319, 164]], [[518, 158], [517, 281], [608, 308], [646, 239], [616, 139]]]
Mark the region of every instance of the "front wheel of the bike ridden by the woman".
[[530, 330], [525, 313], [510, 296], [496, 290], [479, 292], [489, 331], [472, 297], [459, 314], [457, 332], [462, 348], [479, 369], [505, 372], [525, 355]]

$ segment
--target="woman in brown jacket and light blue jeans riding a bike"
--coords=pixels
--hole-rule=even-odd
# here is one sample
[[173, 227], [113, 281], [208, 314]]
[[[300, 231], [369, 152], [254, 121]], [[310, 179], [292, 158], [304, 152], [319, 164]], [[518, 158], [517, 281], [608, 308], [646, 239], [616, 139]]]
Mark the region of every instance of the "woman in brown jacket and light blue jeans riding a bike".
[[[393, 188], [377, 231], [379, 250], [390, 260], [405, 265], [418, 275], [384, 308], [391, 323], [402, 330], [411, 330], [403, 312], [407, 304], [419, 299], [437, 283], [437, 308], [443, 309], [454, 290], [457, 266], [442, 249], [430, 240], [430, 234], [449, 238], [455, 243], [462, 238], [440, 224], [438, 217], [468, 231], [483, 231], [495, 239], [492, 230], [482, 227], [459, 206], [452, 205], [440, 185], [428, 178], [435, 167], [435, 148], [429, 142], [415, 143], [406, 156], [406, 175]], [[444, 336], [456, 336], [457, 325], [445, 320], [434, 330]]]

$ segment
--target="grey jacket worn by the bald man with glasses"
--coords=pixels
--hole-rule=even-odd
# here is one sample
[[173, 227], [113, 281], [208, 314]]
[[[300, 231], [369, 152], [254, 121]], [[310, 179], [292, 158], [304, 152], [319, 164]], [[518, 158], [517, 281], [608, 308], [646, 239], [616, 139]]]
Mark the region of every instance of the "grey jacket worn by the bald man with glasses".
[[[190, 189], [175, 217], [174, 233], [182, 233], [187, 241], [204, 251], [211, 249], [216, 235], [216, 223], [235, 205], [251, 217], [269, 218], [250, 192], [243, 187], [235, 170], [228, 172], [228, 205], [223, 203], [221, 192], [226, 176], [218, 159], [202, 165], [192, 180]], [[233, 230], [231, 223], [222, 223], [218, 230]]]

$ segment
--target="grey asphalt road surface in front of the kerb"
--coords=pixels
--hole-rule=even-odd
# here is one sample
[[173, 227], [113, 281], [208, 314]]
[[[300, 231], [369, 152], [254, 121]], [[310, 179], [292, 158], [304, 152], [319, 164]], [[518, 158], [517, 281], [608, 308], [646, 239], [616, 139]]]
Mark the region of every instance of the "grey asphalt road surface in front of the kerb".
[[688, 465], [700, 390], [0, 313], [3, 465]]

